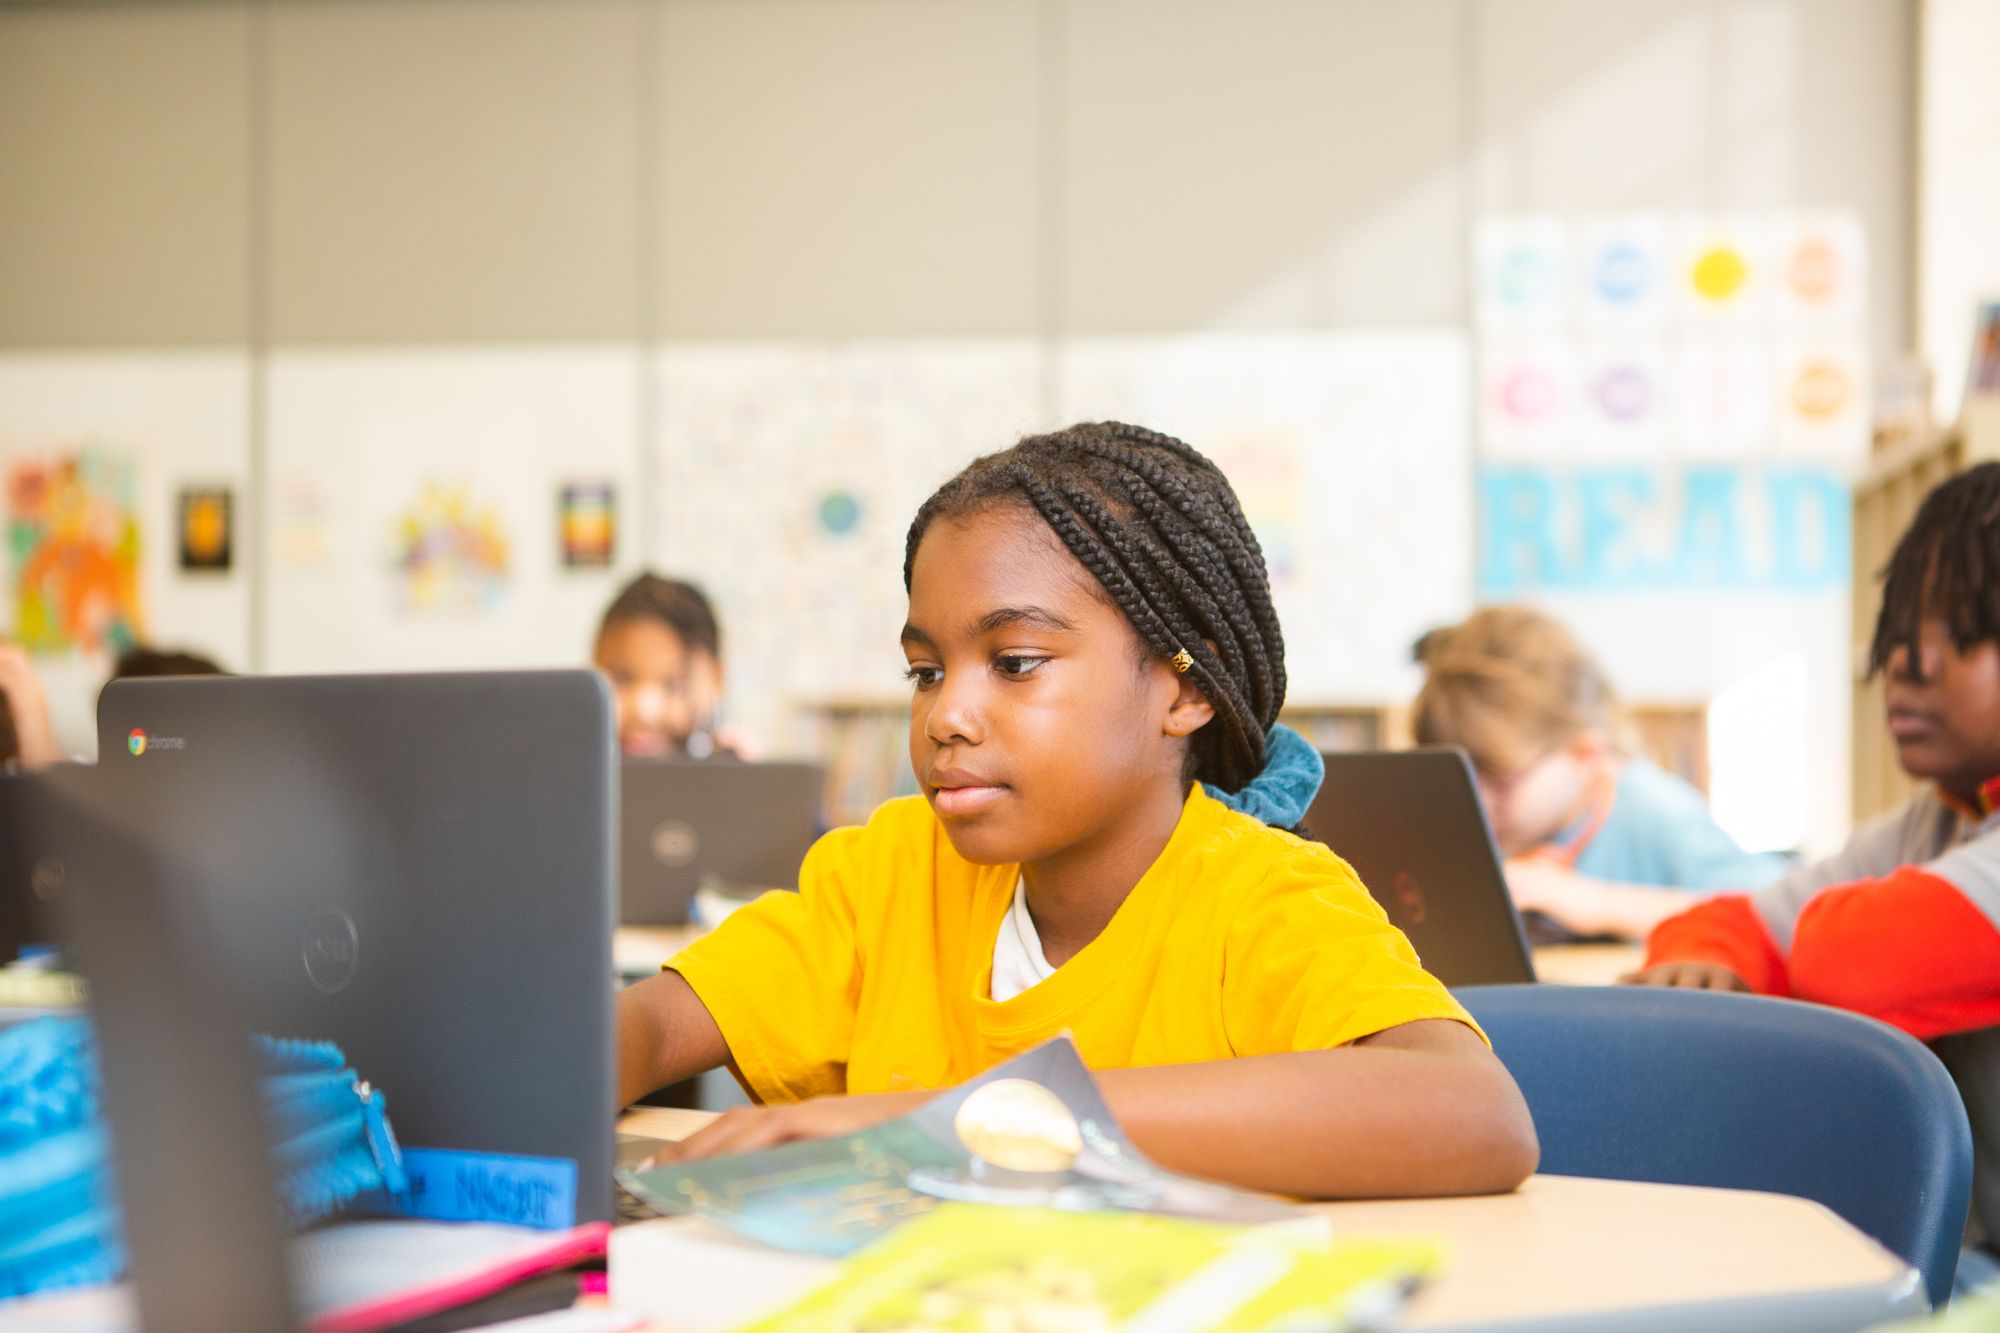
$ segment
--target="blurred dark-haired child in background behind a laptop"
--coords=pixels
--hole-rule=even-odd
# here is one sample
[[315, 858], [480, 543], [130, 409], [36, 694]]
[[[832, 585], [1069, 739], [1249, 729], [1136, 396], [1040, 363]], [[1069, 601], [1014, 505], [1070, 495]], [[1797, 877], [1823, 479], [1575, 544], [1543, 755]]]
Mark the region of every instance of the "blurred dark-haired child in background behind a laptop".
[[748, 741], [718, 725], [722, 628], [692, 582], [640, 574], [598, 624], [592, 658], [618, 699], [618, 745], [634, 759], [734, 755]]

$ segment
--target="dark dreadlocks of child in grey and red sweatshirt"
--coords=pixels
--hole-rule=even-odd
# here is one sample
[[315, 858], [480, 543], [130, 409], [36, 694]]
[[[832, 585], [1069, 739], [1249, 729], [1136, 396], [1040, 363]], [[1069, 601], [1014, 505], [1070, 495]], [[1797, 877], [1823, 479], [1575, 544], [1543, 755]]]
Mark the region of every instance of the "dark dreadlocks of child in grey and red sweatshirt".
[[1968, 468], [1924, 496], [1882, 574], [1868, 675], [1884, 671], [1896, 648], [1920, 671], [1916, 634], [1928, 616], [1944, 618], [1960, 652], [2000, 642], [2000, 462]]

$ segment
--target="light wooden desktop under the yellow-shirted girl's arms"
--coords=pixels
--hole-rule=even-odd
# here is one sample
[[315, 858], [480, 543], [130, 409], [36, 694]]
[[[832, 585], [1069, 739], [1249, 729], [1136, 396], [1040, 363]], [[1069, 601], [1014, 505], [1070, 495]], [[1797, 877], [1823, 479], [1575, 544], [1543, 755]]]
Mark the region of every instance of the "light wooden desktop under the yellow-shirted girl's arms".
[[[620, 1129], [678, 1139], [708, 1119], [646, 1109]], [[1908, 1265], [1784, 1195], [1538, 1175], [1512, 1195], [1314, 1207], [1344, 1233], [1450, 1243], [1444, 1275], [1404, 1311], [1408, 1329], [1832, 1331], [1924, 1307]]]

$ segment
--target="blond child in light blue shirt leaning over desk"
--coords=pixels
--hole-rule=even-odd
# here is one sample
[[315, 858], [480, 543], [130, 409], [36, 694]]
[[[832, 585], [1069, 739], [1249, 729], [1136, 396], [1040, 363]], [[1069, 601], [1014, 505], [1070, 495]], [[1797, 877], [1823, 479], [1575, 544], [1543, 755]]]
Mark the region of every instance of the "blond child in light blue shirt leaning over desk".
[[1556, 620], [1488, 606], [1416, 644], [1420, 745], [1472, 757], [1516, 907], [1572, 935], [1644, 939], [1688, 889], [1758, 889], [1784, 859], [1746, 853], [1702, 795], [1632, 753], [1604, 671]]

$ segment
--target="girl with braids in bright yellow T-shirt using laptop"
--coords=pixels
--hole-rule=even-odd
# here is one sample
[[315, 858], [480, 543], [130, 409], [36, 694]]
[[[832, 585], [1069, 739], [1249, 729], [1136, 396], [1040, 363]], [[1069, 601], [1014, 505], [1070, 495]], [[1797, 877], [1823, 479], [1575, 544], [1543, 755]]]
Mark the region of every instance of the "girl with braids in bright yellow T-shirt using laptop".
[[1068, 1031], [1158, 1161], [1300, 1195], [1512, 1189], [1534, 1127], [1354, 873], [1294, 837], [1264, 556], [1202, 454], [1118, 422], [972, 462], [910, 524], [922, 797], [618, 1003], [620, 1095], [728, 1063], [690, 1157], [850, 1133]]

